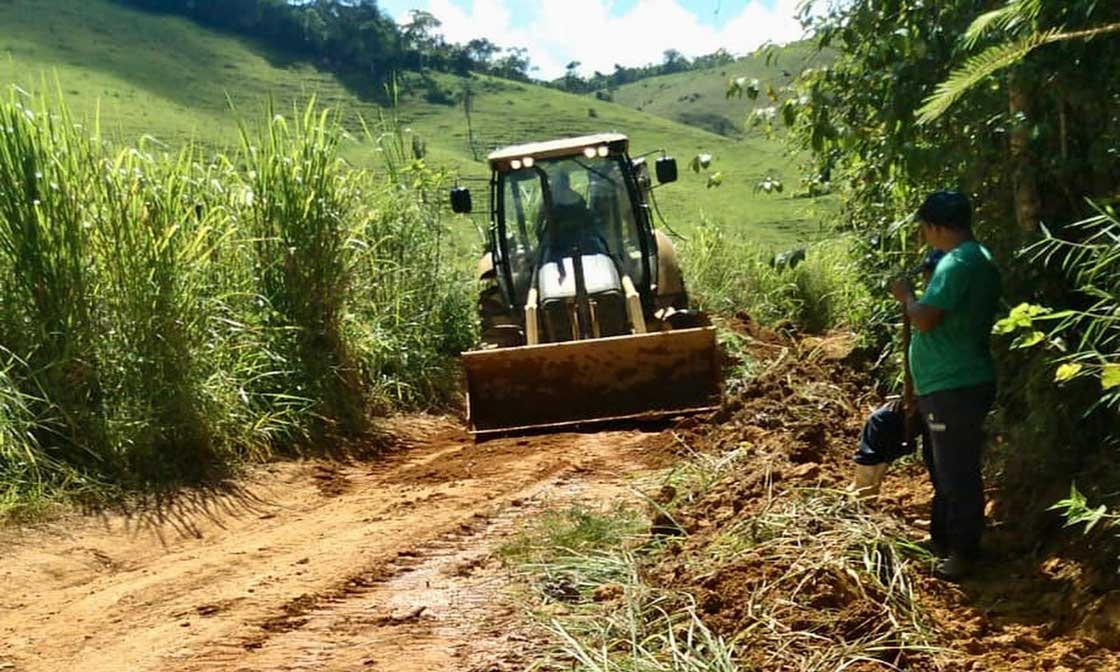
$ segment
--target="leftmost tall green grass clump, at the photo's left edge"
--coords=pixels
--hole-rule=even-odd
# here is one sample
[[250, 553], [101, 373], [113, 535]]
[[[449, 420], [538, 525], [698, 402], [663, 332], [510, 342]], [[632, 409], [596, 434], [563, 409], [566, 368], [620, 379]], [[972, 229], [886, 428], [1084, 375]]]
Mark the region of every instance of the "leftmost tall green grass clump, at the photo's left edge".
[[[0, 106], [0, 345], [10, 396], [35, 419], [31, 461], [78, 466], [103, 459], [96, 345], [96, 277], [85, 176], [94, 148], [65, 114], [38, 109], [17, 92]], [[11, 463], [6, 465], [11, 468]]]

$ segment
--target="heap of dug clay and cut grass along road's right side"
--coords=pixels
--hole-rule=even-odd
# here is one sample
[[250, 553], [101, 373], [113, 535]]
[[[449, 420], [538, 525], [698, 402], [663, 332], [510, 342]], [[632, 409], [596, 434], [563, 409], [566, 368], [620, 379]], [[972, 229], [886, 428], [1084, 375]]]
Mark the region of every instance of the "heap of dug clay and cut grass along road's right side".
[[848, 335], [736, 328], [754, 375], [717, 422], [671, 432], [689, 459], [651, 484], [645, 515], [569, 514], [544, 532], [551, 557], [525, 564], [558, 665], [1120, 669], [1108, 600], [1072, 580], [1092, 568], [1062, 544], [1023, 552], [992, 521], [986, 569], [953, 586], [913, 543], [931, 495], [920, 459], [896, 465], [876, 503], [846, 491], [878, 399]]

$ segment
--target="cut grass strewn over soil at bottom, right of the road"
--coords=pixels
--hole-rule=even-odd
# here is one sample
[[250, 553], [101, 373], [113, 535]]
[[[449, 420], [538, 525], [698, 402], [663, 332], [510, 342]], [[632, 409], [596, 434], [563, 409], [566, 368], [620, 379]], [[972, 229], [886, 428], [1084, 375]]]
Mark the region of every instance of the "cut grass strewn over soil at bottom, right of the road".
[[771, 484], [758, 511], [712, 517], [760, 496], [736, 491], [756, 450], [696, 454], [663, 475], [661, 511], [700, 516], [703, 532], [665, 539], [632, 508], [572, 507], [515, 536], [504, 556], [552, 641], [531, 669], [888, 670], [944, 654], [914, 582], [932, 558], [850, 493]]

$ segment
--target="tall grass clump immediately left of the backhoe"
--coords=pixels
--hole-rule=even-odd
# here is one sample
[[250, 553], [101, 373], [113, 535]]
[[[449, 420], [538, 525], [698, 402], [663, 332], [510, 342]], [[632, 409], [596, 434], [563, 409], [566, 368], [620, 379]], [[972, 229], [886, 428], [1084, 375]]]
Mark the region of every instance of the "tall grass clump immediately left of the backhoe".
[[383, 115], [366, 137], [384, 175], [367, 189], [357, 252], [362, 311], [358, 343], [380, 396], [409, 408], [446, 403], [458, 390], [452, 360], [476, 338], [470, 301], [478, 252], [450, 235], [444, 216], [447, 176], [422, 161], [399, 120]]

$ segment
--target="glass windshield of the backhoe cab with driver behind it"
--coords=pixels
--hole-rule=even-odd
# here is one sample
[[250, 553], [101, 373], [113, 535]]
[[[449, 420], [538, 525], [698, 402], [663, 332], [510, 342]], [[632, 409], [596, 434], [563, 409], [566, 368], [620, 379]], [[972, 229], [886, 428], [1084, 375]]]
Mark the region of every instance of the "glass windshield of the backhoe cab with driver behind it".
[[517, 305], [524, 304], [541, 265], [577, 251], [609, 256], [619, 274], [645, 286], [641, 228], [623, 172], [624, 160], [542, 160], [500, 176], [498, 242], [510, 260]]

